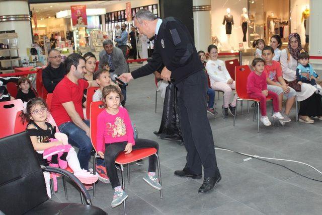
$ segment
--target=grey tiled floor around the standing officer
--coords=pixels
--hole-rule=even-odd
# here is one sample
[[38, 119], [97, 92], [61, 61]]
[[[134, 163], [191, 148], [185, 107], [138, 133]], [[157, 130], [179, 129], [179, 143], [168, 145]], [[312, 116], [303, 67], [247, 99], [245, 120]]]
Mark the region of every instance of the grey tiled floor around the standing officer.
[[[131, 67], [133, 67], [132, 65]], [[126, 183], [128, 214], [322, 214], [322, 183], [306, 179], [281, 166], [251, 159], [246, 156], [216, 150], [217, 163], [222, 180], [216, 189], [204, 195], [197, 193], [202, 179], [194, 180], [174, 176], [174, 171], [185, 164], [186, 150], [176, 142], [160, 140], [153, 134], [158, 130], [162, 116], [162, 100], [158, 95], [157, 113], [154, 113], [154, 77], [148, 76], [129, 84], [126, 108], [136, 124], [139, 137], [159, 143], [159, 157], [163, 176], [164, 198], [149, 187], [142, 177], [147, 170], [143, 166], [131, 165], [131, 183]], [[217, 99], [218, 107], [222, 98]], [[244, 103], [244, 107], [247, 107]], [[246, 110], [246, 111], [245, 111]], [[221, 114], [220, 110], [217, 110]], [[295, 122], [295, 108], [292, 121], [285, 126], [264, 127], [260, 124], [257, 133], [256, 122], [252, 121], [253, 109], [241, 115], [238, 108], [236, 126], [232, 117], [222, 119], [221, 115], [208, 115], [215, 145], [234, 151], [272, 158], [283, 158], [308, 163], [322, 169], [321, 125]], [[322, 175], [307, 166], [289, 162], [274, 161], [305, 176], [322, 180]], [[59, 179], [59, 191], [53, 199], [65, 201]], [[90, 192], [92, 194], [92, 192]], [[93, 204], [109, 214], [123, 214], [123, 206], [110, 206], [113, 190], [110, 184], [97, 184]], [[69, 201], [81, 202], [76, 189], [68, 185]]]

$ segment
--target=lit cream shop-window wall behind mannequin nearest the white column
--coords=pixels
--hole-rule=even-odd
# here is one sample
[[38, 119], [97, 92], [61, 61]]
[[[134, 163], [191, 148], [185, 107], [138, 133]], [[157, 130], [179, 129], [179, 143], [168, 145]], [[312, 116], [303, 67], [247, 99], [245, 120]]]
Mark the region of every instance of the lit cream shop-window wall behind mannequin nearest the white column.
[[[233, 16], [234, 21], [230, 35], [230, 44], [227, 43], [226, 28], [222, 25], [227, 8], [230, 8], [230, 14]], [[211, 0], [212, 36], [218, 37], [223, 45], [222, 50], [230, 50], [231, 46], [238, 49], [238, 43], [243, 42], [243, 30], [241, 30], [240, 26], [240, 15], [243, 13], [243, 8], [248, 8], [247, 0]]]

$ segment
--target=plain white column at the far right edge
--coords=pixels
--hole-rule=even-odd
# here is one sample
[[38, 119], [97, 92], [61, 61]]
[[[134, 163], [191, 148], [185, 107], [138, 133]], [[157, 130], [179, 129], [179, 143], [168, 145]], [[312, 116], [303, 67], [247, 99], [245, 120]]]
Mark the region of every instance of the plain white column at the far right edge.
[[322, 56], [322, 1], [310, 1], [309, 54]]

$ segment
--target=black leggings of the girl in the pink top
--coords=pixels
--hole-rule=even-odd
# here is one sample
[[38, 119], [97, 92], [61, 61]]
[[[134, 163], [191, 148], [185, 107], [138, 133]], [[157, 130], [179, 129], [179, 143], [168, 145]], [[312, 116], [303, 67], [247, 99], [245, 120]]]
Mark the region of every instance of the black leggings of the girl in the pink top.
[[[127, 141], [114, 142], [113, 144], [105, 144], [104, 162], [108, 176], [110, 177], [111, 185], [113, 188], [121, 186], [120, 180], [117, 175], [115, 168], [115, 159], [117, 156], [124, 152]], [[135, 139], [135, 145], [132, 147], [133, 150], [155, 148], [158, 152], [159, 145], [157, 142], [148, 139]], [[149, 157], [148, 172], [155, 172], [156, 169], [156, 156], [152, 155]]]

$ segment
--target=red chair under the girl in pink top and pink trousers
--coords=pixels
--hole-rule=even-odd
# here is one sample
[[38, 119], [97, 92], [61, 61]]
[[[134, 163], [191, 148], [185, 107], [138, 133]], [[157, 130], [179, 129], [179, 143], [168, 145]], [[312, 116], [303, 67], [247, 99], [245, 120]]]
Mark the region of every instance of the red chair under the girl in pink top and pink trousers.
[[[260, 126], [260, 100], [258, 99], [252, 99], [247, 94], [247, 78], [251, 73], [251, 69], [248, 65], [241, 65], [235, 67], [235, 78], [236, 78], [236, 93], [238, 95], [238, 99], [236, 101], [236, 108], [235, 108], [235, 116], [233, 117], [233, 126], [235, 126], [235, 120], [236, 120], [236, 110], [237, 110], [237, 104], [238, 101], [243, 102], [243, 100], [253, 101], [255, 102], [254, 106], [254, 115], [253, 115], [253, 121], [255, 120], [255, 114], [257, 111], [257, 132], [259, 132], [259, 126]], [[270, 97], [267, 97], [267, 101], [271, 100]], [[278, 124], [278, 122], [277, 122]]]

